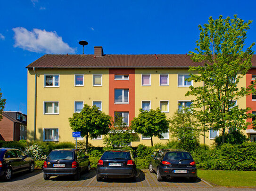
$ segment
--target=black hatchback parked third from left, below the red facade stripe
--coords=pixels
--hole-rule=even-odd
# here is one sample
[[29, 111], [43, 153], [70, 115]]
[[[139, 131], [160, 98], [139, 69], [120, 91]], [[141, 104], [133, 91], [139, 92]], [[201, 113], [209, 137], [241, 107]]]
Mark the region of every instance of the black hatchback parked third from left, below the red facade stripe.
[[108, 150], [103, 153], [96, 169], [97, 181], [102, 178], [136, 178], [136, 165], [129, 150]]

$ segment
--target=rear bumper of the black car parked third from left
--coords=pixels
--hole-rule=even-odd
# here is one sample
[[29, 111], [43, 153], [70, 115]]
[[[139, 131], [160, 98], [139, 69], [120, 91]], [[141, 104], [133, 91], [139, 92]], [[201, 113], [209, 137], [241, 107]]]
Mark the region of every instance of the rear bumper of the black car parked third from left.
[[136, 168], [97, 167], [96, 173], [101, 178], [131, 178], [136, 175]]

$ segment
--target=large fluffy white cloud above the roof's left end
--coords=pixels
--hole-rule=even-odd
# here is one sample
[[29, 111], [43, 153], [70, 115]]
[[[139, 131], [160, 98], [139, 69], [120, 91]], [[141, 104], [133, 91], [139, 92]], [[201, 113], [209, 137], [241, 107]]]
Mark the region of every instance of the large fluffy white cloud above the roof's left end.
[[67, 43], [62, 41], [56, 31], [45, 31], [40, 29], [33, 29], [28, 31], [23, 27], [12, 29], [15, 39], [14, 47], [19, 47], [24, 50], [36, 53], [75, 53], [76, 49], [71, 48]]

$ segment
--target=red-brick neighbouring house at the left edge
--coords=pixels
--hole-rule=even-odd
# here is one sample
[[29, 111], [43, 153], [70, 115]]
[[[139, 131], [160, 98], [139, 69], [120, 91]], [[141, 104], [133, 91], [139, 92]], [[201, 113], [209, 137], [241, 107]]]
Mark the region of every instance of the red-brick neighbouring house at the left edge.
[[27, 115], [16, 111], [3, 111], [0, 121], [0, 140], [18, 141], [27, 139]]

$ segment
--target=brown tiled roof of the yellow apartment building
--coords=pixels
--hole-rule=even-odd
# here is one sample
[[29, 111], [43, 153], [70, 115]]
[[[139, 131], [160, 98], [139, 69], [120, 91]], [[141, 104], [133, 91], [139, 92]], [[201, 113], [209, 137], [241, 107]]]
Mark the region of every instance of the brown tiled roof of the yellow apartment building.
[[[256, 67], [256, 55], [252, 59]], [[82, 54], [46, 54], [26, 68], [188, 68], [203, 65], [185, 54], [106, 54], [94, 57]]]

